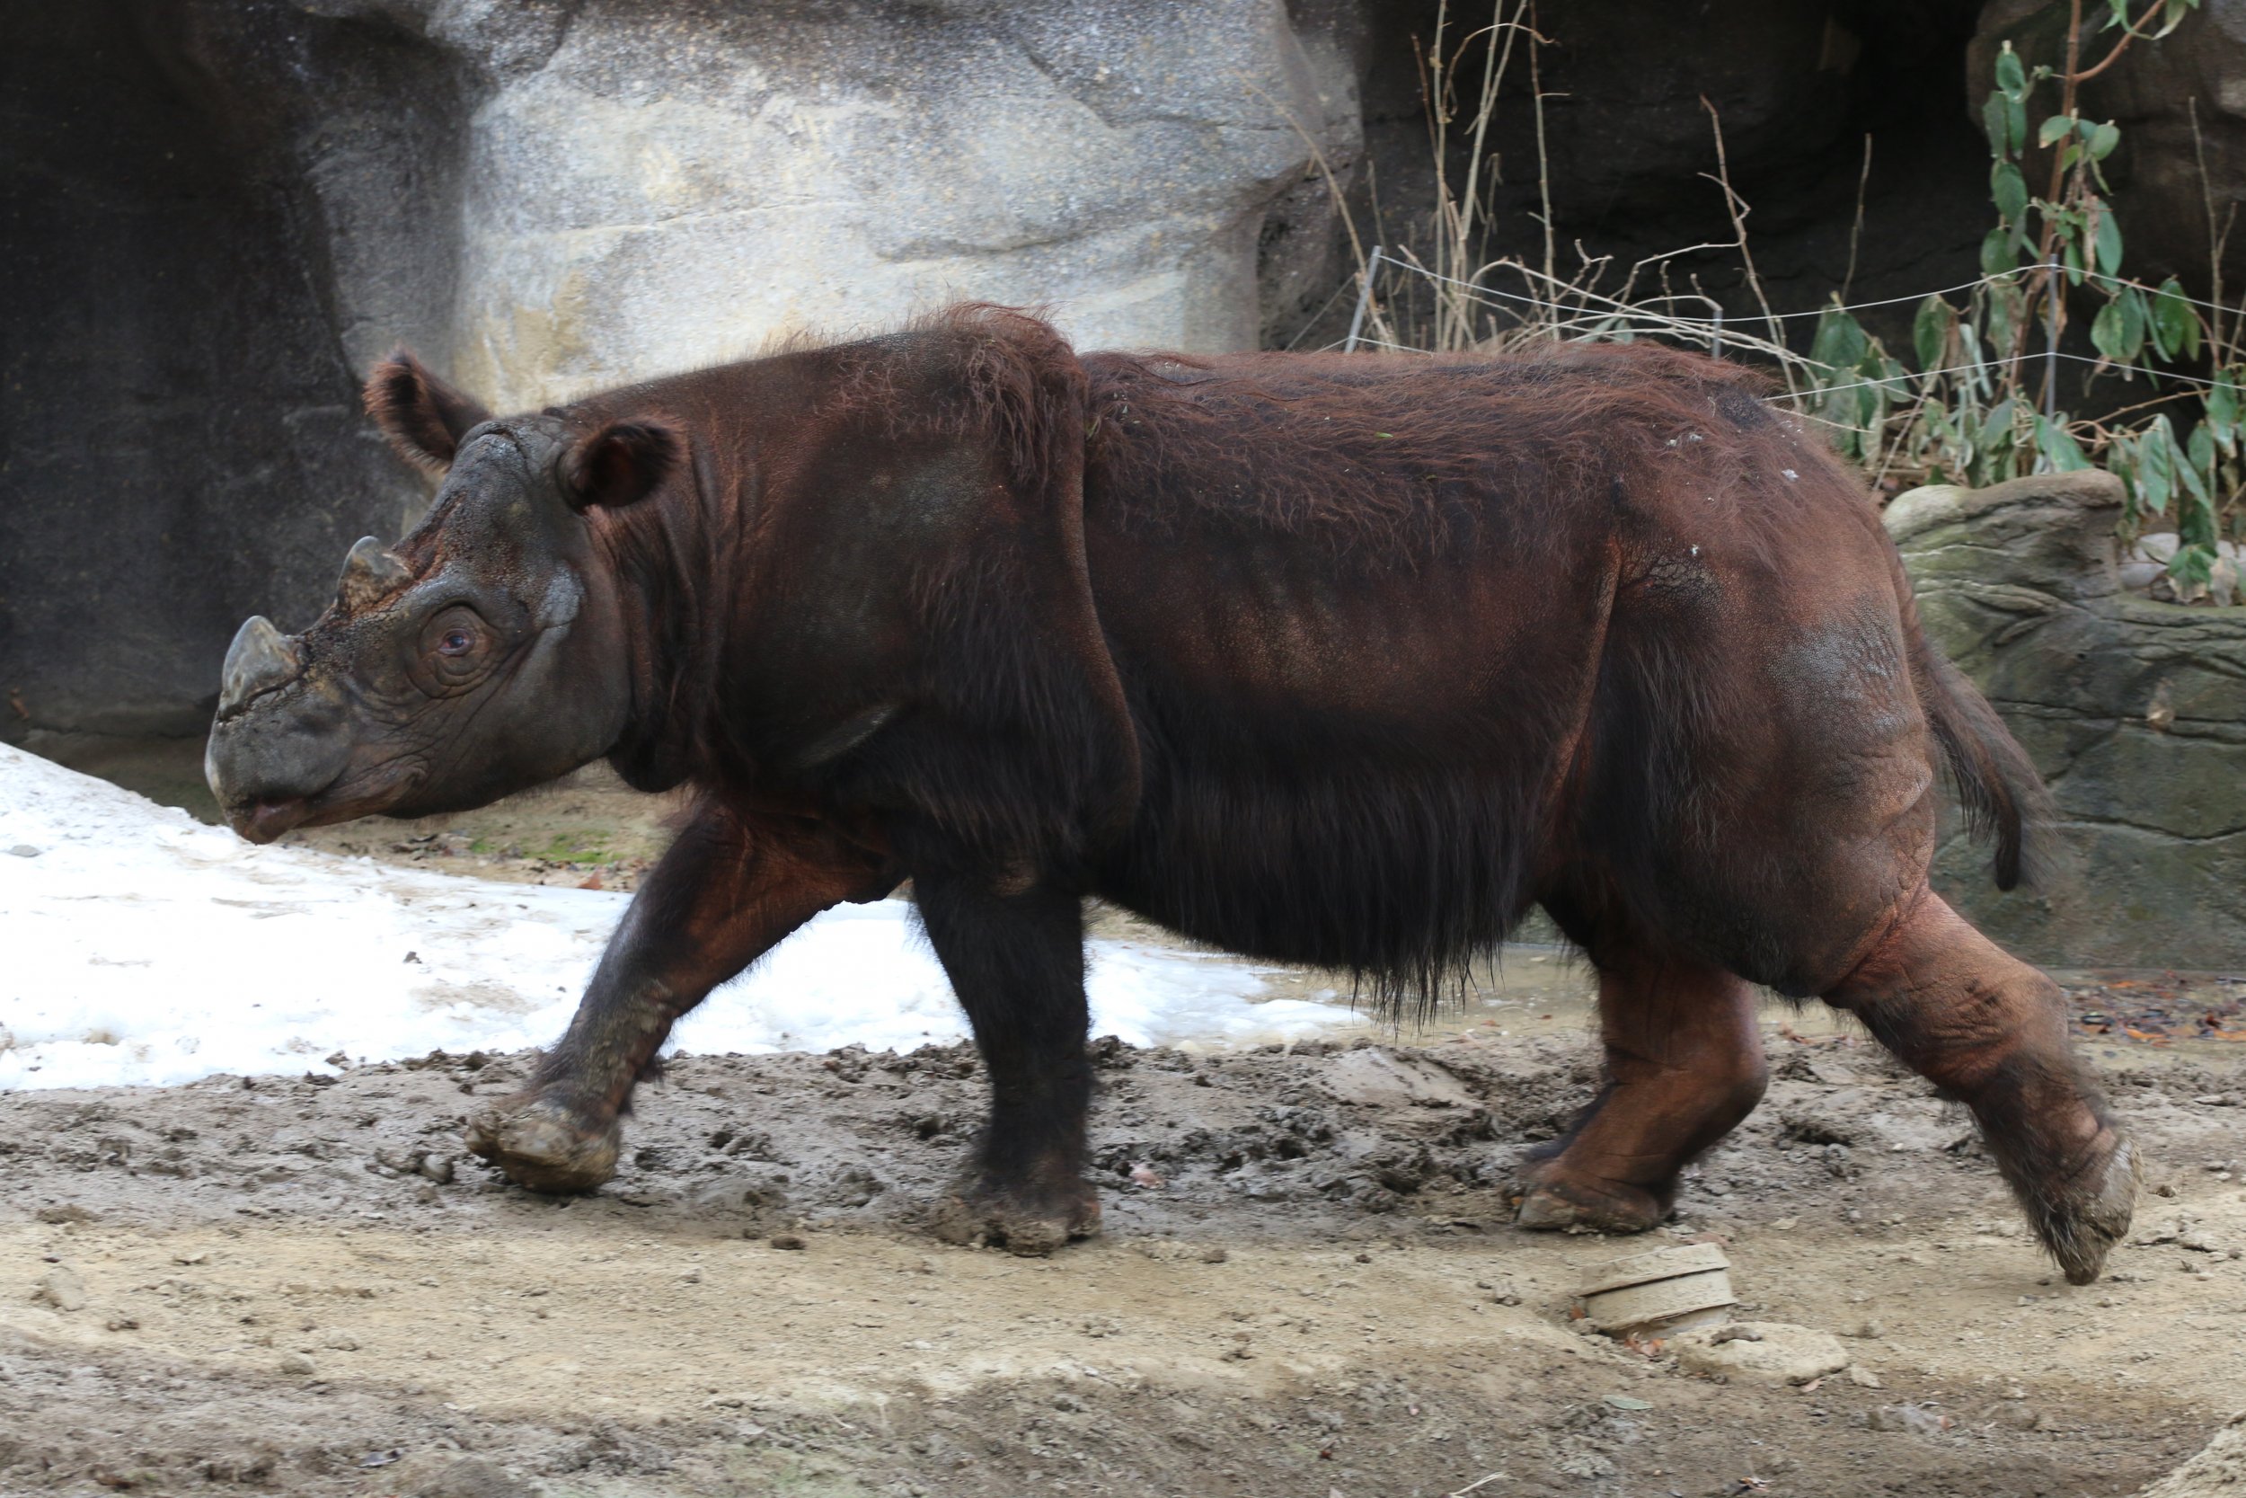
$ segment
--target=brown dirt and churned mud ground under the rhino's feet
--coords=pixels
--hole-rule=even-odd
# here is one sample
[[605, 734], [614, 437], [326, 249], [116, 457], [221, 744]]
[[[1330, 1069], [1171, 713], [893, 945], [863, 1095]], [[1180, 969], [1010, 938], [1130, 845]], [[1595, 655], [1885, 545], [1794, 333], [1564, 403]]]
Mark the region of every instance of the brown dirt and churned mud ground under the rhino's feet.
[[[663, 809], [602, 797], [308, 840], [618, 887]], [[458, 1150], [526, 1056], [0, 1096], [0, 1494], [2120, 1496], [2246, 1404], [2237, 984], [2073, 986], [2156, 1184], [2084, 1289], [1959, 1109], [1774, 1008], [1768, 1100], [1651, 1237], [1844, 1339], [1797, 1388], [1574, 1321], [1646, 1240], [1509, 1226], [1595, 1083], [1545, 957], [1419, 1044], [1098, 1044], [1107, 1231], [1053, 1260], [919, 1231], [959, 1047], [674, 1060], [575, 1202]]]

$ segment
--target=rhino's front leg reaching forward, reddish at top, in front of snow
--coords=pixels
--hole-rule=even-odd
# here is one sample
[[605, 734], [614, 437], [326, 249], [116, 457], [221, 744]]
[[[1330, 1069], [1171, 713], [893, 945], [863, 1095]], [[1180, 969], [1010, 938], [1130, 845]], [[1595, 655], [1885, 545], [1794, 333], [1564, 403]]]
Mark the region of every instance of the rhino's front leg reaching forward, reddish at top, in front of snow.
[[822, 822], [705, 804], [633, 896], [568, 1033], [469, 1121], [467, 1148], [532, 1190], [593, 1190], [672, 1024], [811, 916], [885, 887], [880, 860]]

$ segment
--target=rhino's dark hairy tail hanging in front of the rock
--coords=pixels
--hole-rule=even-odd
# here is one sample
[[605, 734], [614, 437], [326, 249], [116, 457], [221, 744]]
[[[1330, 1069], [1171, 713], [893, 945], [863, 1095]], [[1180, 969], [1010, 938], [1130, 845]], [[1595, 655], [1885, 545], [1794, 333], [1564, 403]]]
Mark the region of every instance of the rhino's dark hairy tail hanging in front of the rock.
[[1999, 889], [2033, 885], [2046, 865], [2051, 791], [2028, 750], [2019, 748], [2019, 739], [1979, 687], [1927, 640], [1900, 557], [1896, 586], [1909, 640], [1911, 685], [1918, 689], [1918, 705], [1927, 714], [1934, 741], [1943, 748], [1959, 804], [1965, 809], [1965, 824], [1974, 840], [1994, 840], [1992, 867]]

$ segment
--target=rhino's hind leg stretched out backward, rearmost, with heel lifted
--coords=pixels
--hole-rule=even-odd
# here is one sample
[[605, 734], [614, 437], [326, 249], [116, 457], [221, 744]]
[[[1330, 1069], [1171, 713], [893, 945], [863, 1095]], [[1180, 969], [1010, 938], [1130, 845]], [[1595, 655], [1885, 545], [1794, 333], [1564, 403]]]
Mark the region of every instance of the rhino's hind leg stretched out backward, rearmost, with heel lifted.
[[1824, 997], [1972, 1109], [2066, 1280], [2096, 1280], [2129, 1233], [2138, 1163], [2066, 1042], [2060, 986], [1920, 887]]

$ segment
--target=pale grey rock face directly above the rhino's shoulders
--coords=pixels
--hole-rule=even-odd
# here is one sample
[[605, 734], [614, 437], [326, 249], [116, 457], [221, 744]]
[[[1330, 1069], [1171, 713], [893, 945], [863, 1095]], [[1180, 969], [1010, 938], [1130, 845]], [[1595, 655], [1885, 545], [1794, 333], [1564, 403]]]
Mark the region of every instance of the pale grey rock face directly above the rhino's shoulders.
[[445, 353], [501, 407], [955, 299], [1253, 348], [1271, 209], [1323, 227], [1294, 189], [1354, 153], [1354, 81], [1278, 0], [591, 0], [535, 63], [505, 13], [431, 27], [494, 88]]

